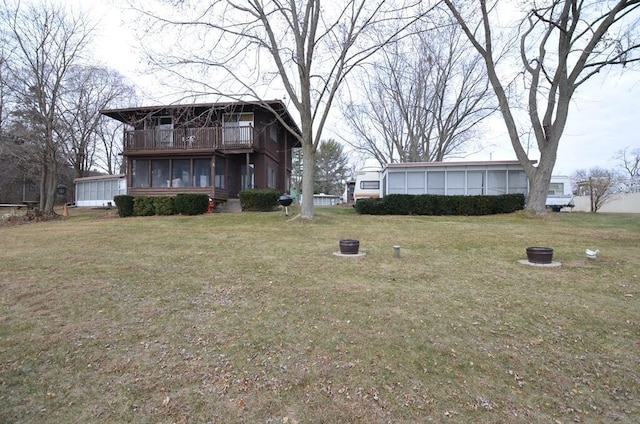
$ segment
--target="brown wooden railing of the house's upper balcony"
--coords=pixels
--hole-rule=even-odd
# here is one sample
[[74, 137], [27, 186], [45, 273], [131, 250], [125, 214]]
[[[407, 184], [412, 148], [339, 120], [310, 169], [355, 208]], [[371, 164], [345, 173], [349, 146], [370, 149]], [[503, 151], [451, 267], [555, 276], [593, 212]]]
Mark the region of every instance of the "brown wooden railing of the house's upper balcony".
[[132, 130], [124, 133], [124, 152], [249, 149], [253, 140], [253, 127]]

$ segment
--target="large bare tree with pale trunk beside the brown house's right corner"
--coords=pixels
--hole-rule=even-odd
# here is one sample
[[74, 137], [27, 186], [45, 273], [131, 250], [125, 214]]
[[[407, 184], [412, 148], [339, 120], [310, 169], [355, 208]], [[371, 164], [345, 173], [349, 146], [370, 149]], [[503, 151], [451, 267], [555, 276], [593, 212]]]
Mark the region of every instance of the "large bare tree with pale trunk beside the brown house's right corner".
[[172, 11], [173, 16], [190, 13], [190, 18], [177, 21], [146, 12], [156, 22], [147, 33], [170, 33], [176, 46], [173, 54], [163, 50], [150, 58], [165, 70], [179, 73], [183, 80], [190, 74], [184, 71], [185, 64], [215, 71], [219, 78], [212, 83], [202, 73], [190, 74], [194, 75], [190, 81], [204, 92], [256, 102], [266, 93], [286, 97], [297, 112], [300, 132], [278, 119], [301, 143], [304, 161], [310, 165], [303, 170], [302, 191], [308, 195], [303, 196], [301, 216], [312, 217], [315, 153], [336, 94], [355, 68], [420, 18], [416, 10], [420, 1], [180, 4], [182, 8]]

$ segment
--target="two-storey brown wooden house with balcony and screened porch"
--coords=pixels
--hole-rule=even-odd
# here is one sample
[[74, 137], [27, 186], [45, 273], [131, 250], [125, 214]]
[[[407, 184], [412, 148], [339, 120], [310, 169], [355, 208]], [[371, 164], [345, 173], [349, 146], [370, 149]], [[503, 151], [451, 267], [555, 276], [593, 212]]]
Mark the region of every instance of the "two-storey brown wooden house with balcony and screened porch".
[[280, 100], [103, 110], [128, 125], [128, 194], [206, 193], [216, 201], [248, 188], [289, 192], [299, 132]]

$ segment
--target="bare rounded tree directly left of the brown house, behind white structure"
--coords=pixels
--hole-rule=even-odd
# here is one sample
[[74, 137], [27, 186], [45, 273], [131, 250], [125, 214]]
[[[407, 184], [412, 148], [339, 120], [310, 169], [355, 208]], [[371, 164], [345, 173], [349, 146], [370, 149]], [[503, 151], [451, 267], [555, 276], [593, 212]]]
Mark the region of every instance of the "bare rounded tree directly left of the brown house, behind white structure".
[[[113, 138], [107, 137], [113, 125], [107, 123], [100, 110], [130, 103], [128, 99], [133, 92], [114, 70], [98, 66], [70, 69], [60, 94], [55, 128], [77, 178], [87, 176], [87, 172], [98, 164], [113, 171]], [[101, 158], [101, 154], [106, 157]]]

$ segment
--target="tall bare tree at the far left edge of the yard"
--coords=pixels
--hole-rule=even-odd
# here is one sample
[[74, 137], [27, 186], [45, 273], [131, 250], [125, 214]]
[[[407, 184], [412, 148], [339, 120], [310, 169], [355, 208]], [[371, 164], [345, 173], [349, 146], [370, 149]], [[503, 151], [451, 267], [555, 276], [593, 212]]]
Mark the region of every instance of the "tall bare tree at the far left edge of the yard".
[[50, 3], [14, 3], [3, 0], [0, 23], [11, 43], [8, 57], [12, 87], [30, 110], [39, 137], [40, 209], [52, 214], [58, 185], [61, 149], [55, 131], [63, 82], [71, 66], [80, 59], [92, 30], [87, 19], [74, 16]]

